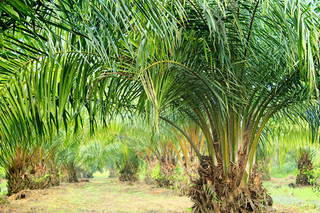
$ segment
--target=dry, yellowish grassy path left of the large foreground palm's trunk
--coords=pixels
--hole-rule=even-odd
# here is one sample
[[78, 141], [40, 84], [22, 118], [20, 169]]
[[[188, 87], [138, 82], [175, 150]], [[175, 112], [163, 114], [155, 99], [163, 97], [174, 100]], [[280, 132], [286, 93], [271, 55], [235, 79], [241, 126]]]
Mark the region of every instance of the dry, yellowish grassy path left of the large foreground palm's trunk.
[[1, 204], [0, 212], [190, 212], [188, 197], [143, 182], [127, 185], [115, 178], [63, 183], [31, 190], [25, 199]]

